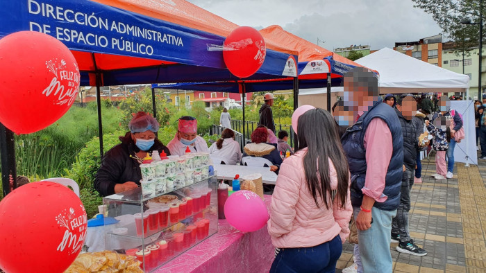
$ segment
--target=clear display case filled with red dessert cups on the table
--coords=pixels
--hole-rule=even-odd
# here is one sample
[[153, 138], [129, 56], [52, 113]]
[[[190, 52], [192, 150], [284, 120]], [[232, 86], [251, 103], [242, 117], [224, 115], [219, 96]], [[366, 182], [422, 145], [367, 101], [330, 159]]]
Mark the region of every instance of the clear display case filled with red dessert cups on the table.
[[119, 220], [104, 228], [106, 249], [137, 256], [145, 272], [183, 254], [218, 229], [215, 175], [174, 183], [171, 191], [156, 188], [142, 182], [139, 188], [103, 198], [108, 217]]

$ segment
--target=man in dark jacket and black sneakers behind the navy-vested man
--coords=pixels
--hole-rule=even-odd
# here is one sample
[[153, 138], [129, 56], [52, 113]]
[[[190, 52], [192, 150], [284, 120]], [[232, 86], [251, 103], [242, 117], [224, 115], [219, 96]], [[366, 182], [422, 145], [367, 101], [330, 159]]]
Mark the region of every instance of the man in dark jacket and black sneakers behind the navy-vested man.
[[[417, 113], [417, 102], [413, 96], [403, 95], [396, 103], [396, 115], [399, 117], [403, 132], [403, 176], [401, 180], [400, 204], [392, 222], [392, 242], [399, 243], [396, 251], [415, 256], [427, 255], [425, 249], [415, 245], [408, 232], [408, 211], [410, 211], [410, 191], [414, 182], [414, 170], [417, 165], [419, 139], [417, 127], [412, 118]], [[422, 127], [424, 125], [422, 124]]]

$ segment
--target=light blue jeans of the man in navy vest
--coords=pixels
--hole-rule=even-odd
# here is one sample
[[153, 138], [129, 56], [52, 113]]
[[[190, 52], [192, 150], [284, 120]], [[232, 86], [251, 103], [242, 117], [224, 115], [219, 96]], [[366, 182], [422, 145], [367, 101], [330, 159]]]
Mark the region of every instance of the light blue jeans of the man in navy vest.
[[[360, 208], [353, 207], [355, 218]], [[393, 271], [392, 254], [389, 251], [389, 244], [392, 243], [392, 218], [396, 215], [394, 211], [383, 211], [373, 207], [371, 217], [373, 223], [367, 230], [358, 229], [358, 240], [360, 243], [360, 260], [362, 268], [358, 264], [358, 272], [384, 272]]]

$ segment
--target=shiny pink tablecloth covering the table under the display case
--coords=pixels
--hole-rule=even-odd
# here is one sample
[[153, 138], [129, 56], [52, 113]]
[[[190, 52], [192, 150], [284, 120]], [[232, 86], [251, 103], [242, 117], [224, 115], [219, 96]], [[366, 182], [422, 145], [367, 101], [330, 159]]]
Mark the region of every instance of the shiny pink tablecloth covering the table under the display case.
[[[265, 195], [267, 207], [271, 195]], [[199, 245], [162, 265], [156, 272], [268, 272], [274, 261], [267, 225], [243, 234], [226, 220], [219, 220], [219, 230]]]

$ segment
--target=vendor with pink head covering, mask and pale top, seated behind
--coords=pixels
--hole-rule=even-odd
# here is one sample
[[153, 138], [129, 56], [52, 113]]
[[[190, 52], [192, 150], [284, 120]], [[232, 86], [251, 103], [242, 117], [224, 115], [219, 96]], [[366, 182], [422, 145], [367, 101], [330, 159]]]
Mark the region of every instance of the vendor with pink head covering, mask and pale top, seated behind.
[[209, 152], [208, 143], [197, 135], [197, 120], [192, 116], [179, 118], [176, 135], [167, 144], [171, 155], [185, 155], [189, 148], [191, 152]]

